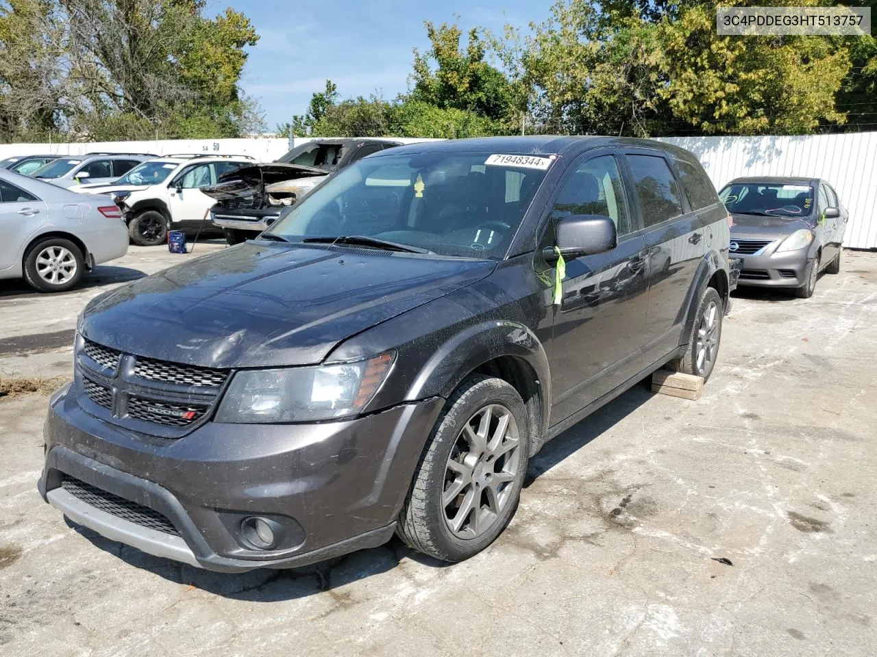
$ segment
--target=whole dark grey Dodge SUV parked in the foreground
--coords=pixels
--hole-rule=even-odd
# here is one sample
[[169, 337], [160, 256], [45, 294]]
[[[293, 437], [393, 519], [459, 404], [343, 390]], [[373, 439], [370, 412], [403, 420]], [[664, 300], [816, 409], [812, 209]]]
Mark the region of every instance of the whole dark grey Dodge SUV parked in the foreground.
[[258, 239], [91, 301], [39, 491], [205, 569], [393, 533], [466, 559], [547, 440], [662, 366], [709, 378], [729, 224], [695, 157], [657, 142], [377, 153]]

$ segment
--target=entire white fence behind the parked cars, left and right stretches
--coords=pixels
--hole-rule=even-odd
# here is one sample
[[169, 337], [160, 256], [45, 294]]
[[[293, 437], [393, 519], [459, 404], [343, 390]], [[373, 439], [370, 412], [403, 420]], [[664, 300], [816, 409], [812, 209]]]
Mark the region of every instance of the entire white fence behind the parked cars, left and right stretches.
[[[877, 248], [877, 132], [810, 137], [672, 137], [662, 138], [687, 148], [701, 160], [717, 188], [745, 175], [795, 175], [824, 178], [838, 190], [850, 212], [844, 245]], [[308, 141], [296, 138], [295, 145]], [[399, 139], [404, 142], [421, 139]], [[168, 155], [212, 152], [250, 155], [268, 161], [287, 152], [286, 138], [175, 139], [162, 141], [75, 144], [0, 144], [0, 159], [28, 153], [59, 156], [86, 152], [151, 152]]]

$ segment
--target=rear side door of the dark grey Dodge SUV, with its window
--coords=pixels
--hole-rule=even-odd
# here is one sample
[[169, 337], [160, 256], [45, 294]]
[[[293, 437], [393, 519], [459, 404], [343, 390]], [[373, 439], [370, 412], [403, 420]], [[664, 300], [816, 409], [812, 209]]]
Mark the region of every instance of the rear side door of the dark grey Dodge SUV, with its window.
[[648, 345], [659, 354], [679, 346], [686, 300], [706, 252], [701, 217], [691, 210], [663, 152], [629, 149], [631, 171], [648, 245]]

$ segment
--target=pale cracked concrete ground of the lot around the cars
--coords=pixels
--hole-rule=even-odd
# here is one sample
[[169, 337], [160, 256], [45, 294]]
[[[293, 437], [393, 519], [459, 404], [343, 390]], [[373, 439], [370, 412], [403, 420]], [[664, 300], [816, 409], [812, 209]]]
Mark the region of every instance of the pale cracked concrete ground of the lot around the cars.
[[[562, 434], [454, 566], [394, 541], [218, 575], [122, 547], [39, 499], [46, 395], [0, 399], [0, 654], [873, 655], [875, 284], [877, 254], [847, 252], [810, 300], [738, 293], [702, 399], [638, 386]], [[69, 376], [69, 342], [22, 336], [73, 329], [97, 290], [0, 284], [0, 345], [41, 351], [0, 377]]]

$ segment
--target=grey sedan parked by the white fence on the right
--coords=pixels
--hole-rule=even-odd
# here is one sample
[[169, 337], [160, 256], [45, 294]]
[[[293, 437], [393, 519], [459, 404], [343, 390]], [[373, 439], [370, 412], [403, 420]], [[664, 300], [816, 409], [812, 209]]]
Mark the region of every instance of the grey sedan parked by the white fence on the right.
[[741, 286], [794, 288], [813, 295], [819, 272], [840, 272], [847, 211], [818, 178], [738, 178], [719, 197], [733, 216], [731, 255]]

